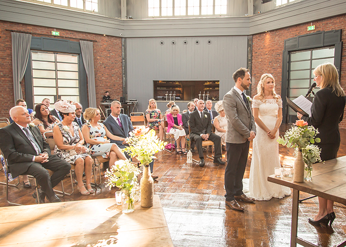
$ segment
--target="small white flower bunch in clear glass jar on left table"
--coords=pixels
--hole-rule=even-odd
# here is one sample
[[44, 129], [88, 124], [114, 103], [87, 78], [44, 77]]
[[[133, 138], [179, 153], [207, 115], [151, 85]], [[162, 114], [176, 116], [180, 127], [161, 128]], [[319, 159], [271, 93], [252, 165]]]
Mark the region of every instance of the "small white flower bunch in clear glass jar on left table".
[[105, 177], [108, 178], [107, 186], [109, 189], [118, 187], [126, 196], [126, 204], [128, 205], [125, 212], [132, 212], [134, 210], [132, 189], [138, 186], [137, 175], [139, 169], [133, 165], [129, 160], [119, 160], [105, 172]]

